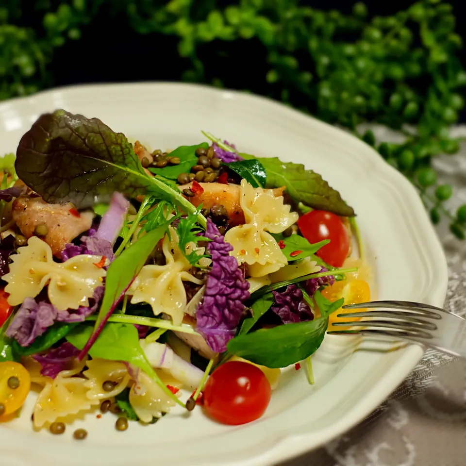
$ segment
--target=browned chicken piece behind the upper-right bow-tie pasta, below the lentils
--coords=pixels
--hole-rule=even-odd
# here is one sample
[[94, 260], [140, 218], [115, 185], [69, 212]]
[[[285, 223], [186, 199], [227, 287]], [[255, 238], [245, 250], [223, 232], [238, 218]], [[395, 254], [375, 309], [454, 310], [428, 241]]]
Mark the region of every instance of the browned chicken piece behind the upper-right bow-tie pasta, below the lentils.
[[[188, 198], [192, 204], [198, 207], [202, 204], [204, 209], [210, 209], [213, 205], [221, 204], [225, 207], [230, 218], [229, 225], [236, 226], [244, 224], [244, 213], [240, 204], [239, 184], [222, 184], [222, 183], [199, 183], [204, 192], [195, 194], [194, 197]], [[191, 188], [192, 183], [183, 184], [180, 189]], [[286, 186], [273, 189], [275, 196], [283, 196]]]

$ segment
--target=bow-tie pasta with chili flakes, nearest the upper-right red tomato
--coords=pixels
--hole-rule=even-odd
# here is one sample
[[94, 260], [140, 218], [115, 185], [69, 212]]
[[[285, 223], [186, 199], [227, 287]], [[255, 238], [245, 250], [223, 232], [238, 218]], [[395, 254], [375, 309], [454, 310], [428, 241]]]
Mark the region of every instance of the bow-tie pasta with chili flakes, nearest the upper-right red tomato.
[[276, 272], [287, 260], [270, 233], [284, 232], [298, 220], [298, 214], [283, 204], [283, 196], [254, 188], [246, 180], [241, 181], [241, 207], [246, 224], [225, 234], [225, 241], [233, 246], [233, 256], [238, 264], [248, 264], [251, 277]]

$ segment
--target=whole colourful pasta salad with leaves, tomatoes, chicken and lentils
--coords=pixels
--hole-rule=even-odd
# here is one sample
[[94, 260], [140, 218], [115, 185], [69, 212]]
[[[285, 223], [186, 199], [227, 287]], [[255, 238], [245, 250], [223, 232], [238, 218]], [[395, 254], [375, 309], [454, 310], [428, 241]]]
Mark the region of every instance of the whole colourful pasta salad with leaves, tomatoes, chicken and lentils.
[[0, 421], [33, 389], [54, 434], [99, 409], [244, 424], [282, 368], [314, 383], [341, 306], [370, 299], [355, 213], [300, 164], [202, 139], [149, 150], [56, 110], [0, 159]]

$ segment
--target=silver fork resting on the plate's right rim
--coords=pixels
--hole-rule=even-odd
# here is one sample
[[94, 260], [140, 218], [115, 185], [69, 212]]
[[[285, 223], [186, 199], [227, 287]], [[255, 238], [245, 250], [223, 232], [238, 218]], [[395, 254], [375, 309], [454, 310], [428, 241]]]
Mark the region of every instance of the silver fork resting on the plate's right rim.
[[333, 322], [334, 327], [363, 328], [332, 330], [327, 333], [388, 336], [421, 343], [430, 348], [466, 358], [466, 319], [439, 307], [411, 301], [370, 301], [342, 307], [342, 309], [373, 308], [393, 310], [338, 314], [337, 317], [367, 317], [370, 320]]

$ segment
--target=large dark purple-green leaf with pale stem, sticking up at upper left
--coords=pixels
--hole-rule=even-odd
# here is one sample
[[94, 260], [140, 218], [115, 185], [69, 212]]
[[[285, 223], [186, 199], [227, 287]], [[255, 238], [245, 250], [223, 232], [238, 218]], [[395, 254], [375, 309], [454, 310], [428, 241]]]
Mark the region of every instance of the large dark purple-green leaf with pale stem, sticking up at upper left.
[[[50, 203], [87, 207], [115, 191], [128, 197], [150, 192], [187, 213], [195, 210], [179, 190], [149, 176], [126, 136], [98, 118], [65, 110], [39, 116], [19, 141], [15, 166], [19, 178]], [[199, 221], [205, 227], [204, 216]]]

